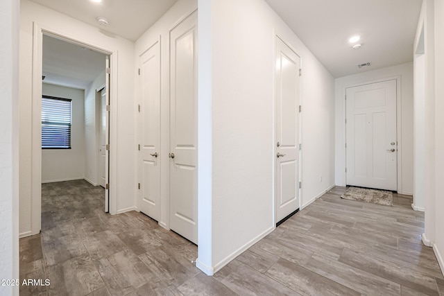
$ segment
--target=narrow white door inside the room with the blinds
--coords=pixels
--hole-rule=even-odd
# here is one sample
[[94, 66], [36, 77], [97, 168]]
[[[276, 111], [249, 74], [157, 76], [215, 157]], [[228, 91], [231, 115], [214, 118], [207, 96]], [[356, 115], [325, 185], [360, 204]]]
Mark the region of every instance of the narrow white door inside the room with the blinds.
[[106, 158], [106, 87], [100, 91], [100, 112], [99, 112], [99, 185], [105, 188], [105, 158]]

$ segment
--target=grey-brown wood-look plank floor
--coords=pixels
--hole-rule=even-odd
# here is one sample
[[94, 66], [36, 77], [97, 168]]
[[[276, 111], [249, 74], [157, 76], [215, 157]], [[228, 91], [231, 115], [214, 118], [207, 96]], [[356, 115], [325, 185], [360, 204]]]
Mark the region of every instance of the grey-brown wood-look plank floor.
[[[20, 295], [441, 295], [420, 241], [424, 215], [395, 195], [386, 207], [341, 200], [335, 187], [207, 277], [197, 247], [131, 211], [103, 212], [85, 181], [42, 186], [42, 233], [20, 240]], [[441, 294], [440, 294], [441, 293]]]

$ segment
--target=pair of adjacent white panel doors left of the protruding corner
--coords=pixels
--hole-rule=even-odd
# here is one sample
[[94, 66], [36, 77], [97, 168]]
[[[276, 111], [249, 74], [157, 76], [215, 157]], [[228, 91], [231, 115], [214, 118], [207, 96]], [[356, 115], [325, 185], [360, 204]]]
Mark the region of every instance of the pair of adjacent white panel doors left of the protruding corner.
[[[169, 112], [161, 110], [160, 43], [140, 57], [138, 207], [158, 221], [167, 213], [169, 228], [197, 243], [197, 12], [170, 31], [169, 43]], [[161, 114], [169, 116], [168, 134], [161, 134]], [[163, 155], [161, 137], [169, 138]], [[169, 180], [161, 180], [162, 170]], [[161, 211], [162, 199], [169, 200], [168, 211]]]

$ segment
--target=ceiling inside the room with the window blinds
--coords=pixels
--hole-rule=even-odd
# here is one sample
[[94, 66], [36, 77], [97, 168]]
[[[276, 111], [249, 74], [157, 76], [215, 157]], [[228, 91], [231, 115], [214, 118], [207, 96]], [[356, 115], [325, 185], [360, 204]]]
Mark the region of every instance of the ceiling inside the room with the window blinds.
[[44, 82], [87, 89], [105, 71], [106, 56], [44, 35], [42, 64]]

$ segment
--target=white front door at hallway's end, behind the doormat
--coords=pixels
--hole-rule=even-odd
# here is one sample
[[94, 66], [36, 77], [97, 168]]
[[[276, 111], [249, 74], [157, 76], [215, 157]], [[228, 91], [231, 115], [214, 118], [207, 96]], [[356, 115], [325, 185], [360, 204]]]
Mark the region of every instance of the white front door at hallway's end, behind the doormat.
[[396, 80], [346, 89], [347, 184], [396, 191]]

